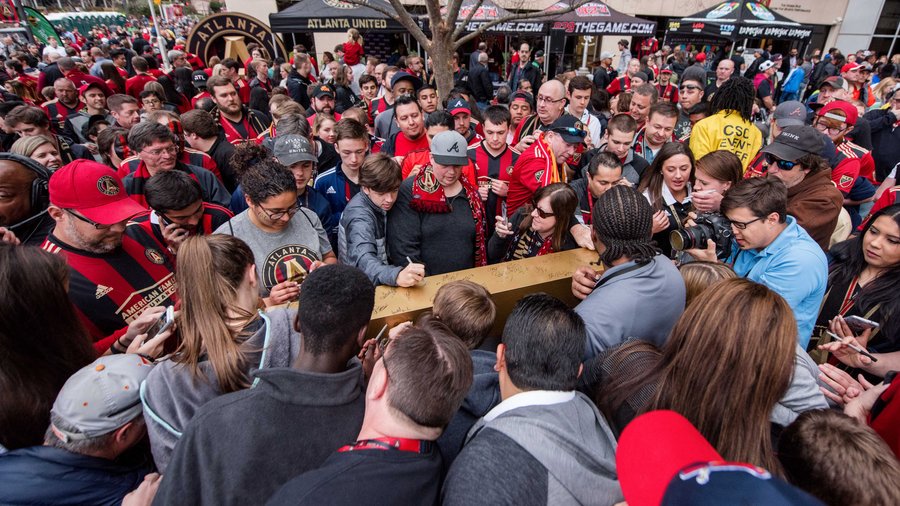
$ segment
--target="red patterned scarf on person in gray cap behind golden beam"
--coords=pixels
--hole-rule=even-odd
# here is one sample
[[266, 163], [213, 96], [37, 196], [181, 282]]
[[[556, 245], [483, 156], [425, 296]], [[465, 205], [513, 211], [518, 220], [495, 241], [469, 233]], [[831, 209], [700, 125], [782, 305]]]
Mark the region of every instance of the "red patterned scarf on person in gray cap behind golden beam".
[[[475, 267], [487, 265], [487, 251], [485, 250], [485, 218], [484, 206], [478, 195], [478, 188], [466, 180], [459, 178], [466, 198], [469, 199], [469, 207], [472, 209], [472, 218], [475, 220]], [[420, 213], [440, 214], [451, 211], [447, 197], [444, 195], [444, 187], [437, 181], [432, 172], [431, 165], [419, 171], [413, 182], [413, 196], [409, 206]]]

